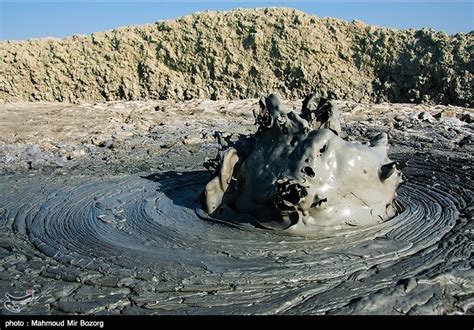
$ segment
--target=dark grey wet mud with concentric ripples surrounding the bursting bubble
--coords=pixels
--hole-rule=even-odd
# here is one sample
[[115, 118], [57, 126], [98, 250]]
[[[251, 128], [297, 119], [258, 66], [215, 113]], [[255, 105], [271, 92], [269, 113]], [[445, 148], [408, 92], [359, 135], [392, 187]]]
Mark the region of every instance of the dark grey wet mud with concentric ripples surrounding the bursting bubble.
[[[354, 114], [359, 138], [390, 126]], [[398, 214], [332, 235], [209, 221], [211, 175], [180, 171], [184, 154], [161, 171], [5, 173], [1, 313], [30, 290], [23, 314], [472, 314], [472, 125], [410, 118], [389, 132], [409, 160]]]

